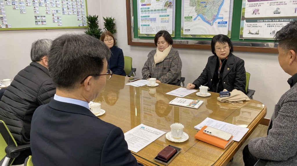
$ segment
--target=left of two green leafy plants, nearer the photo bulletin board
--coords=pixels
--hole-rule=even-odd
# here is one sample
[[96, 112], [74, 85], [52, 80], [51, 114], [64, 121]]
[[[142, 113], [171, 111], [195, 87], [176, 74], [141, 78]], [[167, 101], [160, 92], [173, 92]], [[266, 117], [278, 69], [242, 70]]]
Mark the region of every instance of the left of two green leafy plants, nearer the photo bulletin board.
[[87, 22], [89, 25], [89, 28], [87, 31], [85, 31], [86, 34], [94, 36], [97, 39], [100, 39], [100, 36], [102, 34], [102, 29], [99, 28], [99, 21], [98, 21], [98, 16], [87, 16]]

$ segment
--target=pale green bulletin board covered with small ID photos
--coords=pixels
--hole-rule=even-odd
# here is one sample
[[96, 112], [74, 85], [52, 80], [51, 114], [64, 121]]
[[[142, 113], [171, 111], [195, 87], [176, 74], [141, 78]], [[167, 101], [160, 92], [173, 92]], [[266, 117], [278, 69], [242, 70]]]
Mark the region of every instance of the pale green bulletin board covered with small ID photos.
[[86, 0], [0, 0], [0, 30], [86, 28]]

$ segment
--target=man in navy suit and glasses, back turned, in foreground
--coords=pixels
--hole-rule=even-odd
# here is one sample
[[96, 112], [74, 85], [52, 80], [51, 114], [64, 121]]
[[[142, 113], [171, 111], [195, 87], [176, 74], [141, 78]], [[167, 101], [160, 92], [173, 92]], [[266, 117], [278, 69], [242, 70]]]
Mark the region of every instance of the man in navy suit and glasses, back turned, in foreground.
[[50, 48], [48, 68], [57, 90], [37, 108], [31, 127], [34, 165], [142, 165], [121, 128], [97, 118], [88, 103], [112, 76], [109, 48], [89, 35], [62, 35]]

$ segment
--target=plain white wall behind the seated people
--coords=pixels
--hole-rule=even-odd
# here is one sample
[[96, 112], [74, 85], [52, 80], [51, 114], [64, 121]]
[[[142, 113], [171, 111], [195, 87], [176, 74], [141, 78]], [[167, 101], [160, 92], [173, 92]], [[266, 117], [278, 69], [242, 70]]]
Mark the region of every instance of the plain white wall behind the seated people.
[[[133, 67], [137, 68], [137, 76], [141, 77], [141, 69], [147, 54], [153, 47], [139, 47], [127, 45], [127, 21], [126, 2], [124, 0], [87, 0], [88, 14], [99, 15], [99, 24], [103, 27], [102, 17], [114, 17], [116, 19], [117, 45], [123, 49], [125, 56], [133, 58]], [[103, 29], [103, 28], [102, 28]], [[64, 30], [22, 30], [0, 31], [0, 79], [13, 77], [26, 67], [30, 61], [30, 47], [34, 40], [41, 38], [54, 39], [57, 36], [76, 32], [83, 33], [85, 29]], [[174, 47], [174, 45], [173, 45]], [[210, 50], [177, 49], [183, 62], [182, 77], [186, 77], [186, 83], [192, 83], [204, 69]], [[255, 89], [254, 100], [262, 102], [267, 107], [266, 118], [270, 119], [274, 105], [281, 95], [290, 87], [286, 74], [279, 66], [277, 54], [233, 52], [234, 55], [244, 59], [246, 71], [251, 73], [250, 89]], [[275, 90], [279, 88], [278, 90]]]

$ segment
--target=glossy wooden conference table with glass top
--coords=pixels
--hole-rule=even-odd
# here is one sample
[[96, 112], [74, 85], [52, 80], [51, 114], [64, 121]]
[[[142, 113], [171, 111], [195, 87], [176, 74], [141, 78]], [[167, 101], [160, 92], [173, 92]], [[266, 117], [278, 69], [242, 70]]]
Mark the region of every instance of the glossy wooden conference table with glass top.
[[[178, 86], [159, 84], [157, 87], [133, 87], [125, 85], [128, 79], [129, 77], [113, 75], [106, 81], [105, 89], [94, 100], [101, 102], [101, 108], [106, 111], [98, 118], [120, 127], [124, 133], [141, 123], [169, 132], [170, 124], [178, 122], [184, 124], [184, 132], [189, 135], [189, 140], [176, 143], [167, 140], [164, 134], [139, 152], [132, 152], [138, 162], [144, 165], [162, 165], [155, 162], [154, 157], [168, 145], [181, 148], [181, 152], [169, 166], [227, 165], [266, 115], [266, 107], [261, 102], [251, 100], [235, 105], [221, 103], [217, 101], [218, 93], [212, 92], [209, 97], [199, 97], [195, 93], [184, 97], [204, 100], [198, 109], [169, 105], [169, 101], [176, 96], [165, 93], [179, 88]], [[249, 131], [241, 141], [233, 141], [224, 150], [194, 138], [198, 131], [194, 126], [206, 117], [246, 126]]]

